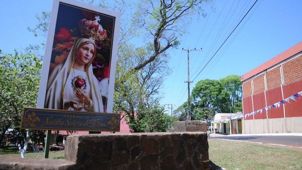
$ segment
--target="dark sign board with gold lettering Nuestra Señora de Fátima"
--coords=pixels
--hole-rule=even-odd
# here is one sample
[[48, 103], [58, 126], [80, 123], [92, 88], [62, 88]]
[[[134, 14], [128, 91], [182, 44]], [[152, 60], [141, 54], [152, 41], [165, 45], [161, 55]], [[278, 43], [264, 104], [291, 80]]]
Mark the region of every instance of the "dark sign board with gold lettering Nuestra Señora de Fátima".
[[21, 129], [112, 131], [120, 128], [120, 114], [24, 108]]

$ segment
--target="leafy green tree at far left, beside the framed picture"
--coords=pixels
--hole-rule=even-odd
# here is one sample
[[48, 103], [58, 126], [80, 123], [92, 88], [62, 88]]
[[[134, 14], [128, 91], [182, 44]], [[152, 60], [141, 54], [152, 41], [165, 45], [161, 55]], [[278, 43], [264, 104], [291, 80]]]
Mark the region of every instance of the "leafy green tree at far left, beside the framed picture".
[[34, 54], [0, 53], [0, 142], [8, 128], [19, 129], [23, 107], [35, 107], [41, 60]]

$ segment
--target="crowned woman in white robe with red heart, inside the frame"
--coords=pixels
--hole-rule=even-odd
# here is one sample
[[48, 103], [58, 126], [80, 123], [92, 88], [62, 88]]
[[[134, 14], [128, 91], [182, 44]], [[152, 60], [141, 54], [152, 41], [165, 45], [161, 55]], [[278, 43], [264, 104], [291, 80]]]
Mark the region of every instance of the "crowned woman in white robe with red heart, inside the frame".
[[92, 66], [97, 53], [96, 43], [107, 37], [98, 21], [80, 21], [82, 36], [73, 38], [66, 59], [56, 65], [48, 76], [45, 108], [104, 112], [102, 87]]

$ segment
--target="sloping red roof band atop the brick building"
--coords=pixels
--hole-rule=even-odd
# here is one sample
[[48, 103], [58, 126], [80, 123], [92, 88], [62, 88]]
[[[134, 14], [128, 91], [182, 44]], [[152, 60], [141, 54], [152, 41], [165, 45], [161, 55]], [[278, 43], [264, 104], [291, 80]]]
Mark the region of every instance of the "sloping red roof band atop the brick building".
[[302, 41], [241, 76], [241, 82], [302, 51]]

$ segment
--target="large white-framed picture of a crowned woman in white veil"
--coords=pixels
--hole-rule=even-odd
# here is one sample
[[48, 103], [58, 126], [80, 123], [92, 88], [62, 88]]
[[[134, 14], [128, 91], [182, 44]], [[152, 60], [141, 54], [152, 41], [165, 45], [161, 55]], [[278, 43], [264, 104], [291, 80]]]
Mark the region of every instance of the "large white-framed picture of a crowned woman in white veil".
[[38, 108], [112, 113], [120, 14], [55, 0]]

